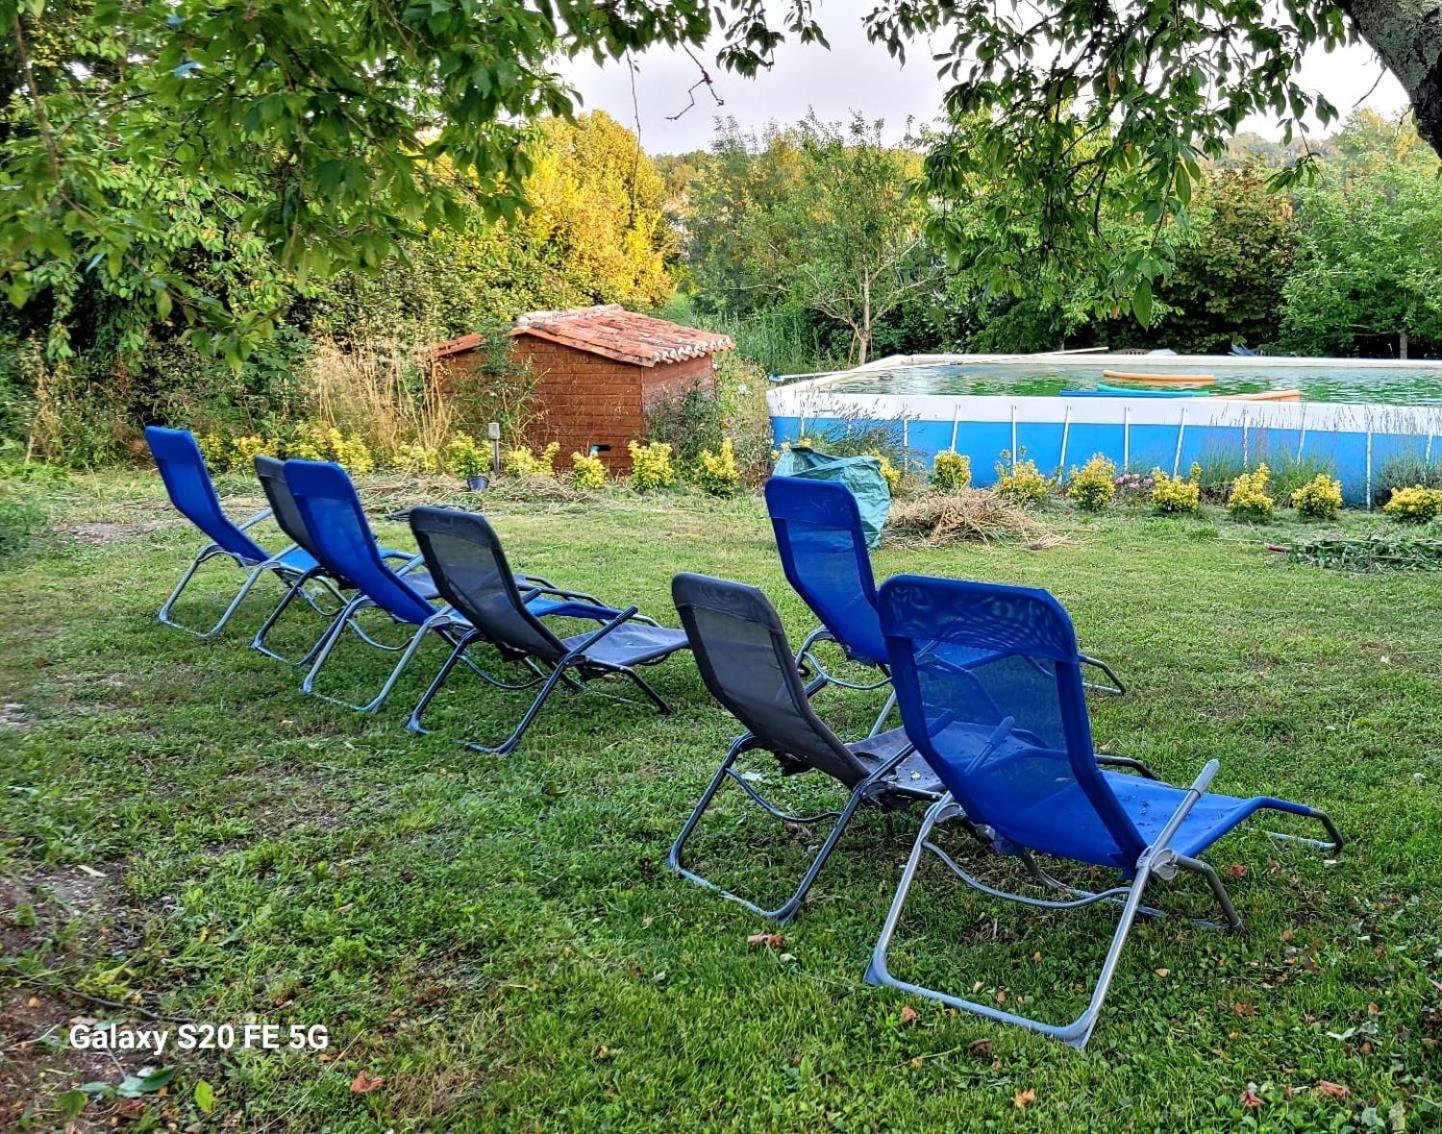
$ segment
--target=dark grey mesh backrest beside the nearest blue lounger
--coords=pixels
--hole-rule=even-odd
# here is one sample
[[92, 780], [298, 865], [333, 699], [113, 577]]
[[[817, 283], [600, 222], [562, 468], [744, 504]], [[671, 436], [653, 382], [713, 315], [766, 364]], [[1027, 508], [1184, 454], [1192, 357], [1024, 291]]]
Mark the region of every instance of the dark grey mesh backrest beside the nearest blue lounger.
[[671, 594], [711, 695], [760, 746], [855, 786], [867, 769], [816, 716], [776, 607], [756, 587], [678, 574]]

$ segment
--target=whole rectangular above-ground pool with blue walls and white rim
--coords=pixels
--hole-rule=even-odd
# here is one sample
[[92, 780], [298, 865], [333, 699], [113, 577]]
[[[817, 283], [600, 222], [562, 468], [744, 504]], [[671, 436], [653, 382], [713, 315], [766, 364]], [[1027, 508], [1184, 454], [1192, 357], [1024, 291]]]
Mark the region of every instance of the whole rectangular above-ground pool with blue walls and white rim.
[[[1187, 397], [1175, 387], [1113, 384], [1103, 371], [1214, 375]], [[1148, 392], [1148, 391], [1152, 392]], [[1299, 401], [1229, 394], [1299, 390]], [[1211, 355], [926, 355], [880, 359], [767, 394], [777, 443], [890, 428], [930, 467], [950, 449], [975, 483], [1008, 459], [1047, 473], [1102, 453], [1122, 469], [1181, 473], [1193, 462], [1252, 467], [1305, 460], [1343, 482], [1348, 504], [1371, 501], [1377, 472], [1405, 457], [1442, 462], [1442, 362], [1231, 358]], [[1009, 454], [1009, 457], [1008, 457]]]

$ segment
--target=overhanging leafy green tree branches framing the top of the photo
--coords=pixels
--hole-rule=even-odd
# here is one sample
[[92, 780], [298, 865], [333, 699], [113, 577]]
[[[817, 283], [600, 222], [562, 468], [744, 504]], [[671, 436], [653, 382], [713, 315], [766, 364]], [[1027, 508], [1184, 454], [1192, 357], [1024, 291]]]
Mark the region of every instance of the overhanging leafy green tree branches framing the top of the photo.
[[[1161, 235], [1185, 224], [1201, 157], [1221, 157], [1253, 113], [1276, 113], [1288, 130], [1309, 111], [1334, 117], [1295, 81], [1308, 48], [1363, 36], [1407, 89], [1422, 137], [1442, 147], [1439, 17], [1442, 0], [881, 0], [867, 29], [897, 55], [927, 38], [956, 81], [947, 113], [972, 123], [975, 144], [933, 151], [930, 192], [955, 192], [973, 172], [1009, 179], [1038, 251], [1063, 267], [1112, 255], [1109, 212], [1155, 227], [1156, 247], [1109, 274], [1146, 322], [1151, 280], [1168, 263]], [[213, 193], [261, 177], [267, 192], [242, 221], [287, 271], [373, 268], [402, 234], [456, 224], [467, 195], [499, 215], [521, 208], [528, 124], [574, 107], [555, 55], [699, 46], [724, 25], [722, 65], [754, 74], [787, 35], [825, 42], [812, 0], [0, 0], [0, 25], [12, 39], [0, 56], [0, 283], [12, 300], [46, 287], [56, 264], [138, 273], [157, 309], [176, 306], [202, 340], [219, 329], [236, 353], [274, 313], [236, 309], [185, 264], [151, 255], [163, 212], [121, 208], [117, 166], [200, 177]], [[63, 42], [42, 52], [52, 27]], [[437, 175], [441, 159], [453, 177]], [[998, 244], [1015, 235], [1009, 219], [998, 219]], [[996, 263], [1031, 271], [1021, 247]]]

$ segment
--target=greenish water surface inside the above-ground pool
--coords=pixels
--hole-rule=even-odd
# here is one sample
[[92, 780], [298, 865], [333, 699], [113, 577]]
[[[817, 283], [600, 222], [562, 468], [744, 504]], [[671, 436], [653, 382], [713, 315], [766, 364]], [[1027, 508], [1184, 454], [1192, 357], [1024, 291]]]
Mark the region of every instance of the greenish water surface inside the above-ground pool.
[[[1103, 369], [1136, 374], [1213, 374], [1208, 394], [1255, 394], [1263, 390], [1301, 390], [1304, 401], [1373, 403], [1390, 405], [1442, 405], [1442, 362], [1409, 365], [1357, 365], [1347, 359], [1278, 365], [1257, 359], [1174, 359], [1155, 355], [1109, 355], [1097, 361], [1064, 362], [1028, 358], [1017, 362], [942, 362], [895, 369], [852, 371], [826, 382], [838, 394], [1061, 394], [1096, 390]], [[1164, 387], [1136, 387], [1156, 390]]]

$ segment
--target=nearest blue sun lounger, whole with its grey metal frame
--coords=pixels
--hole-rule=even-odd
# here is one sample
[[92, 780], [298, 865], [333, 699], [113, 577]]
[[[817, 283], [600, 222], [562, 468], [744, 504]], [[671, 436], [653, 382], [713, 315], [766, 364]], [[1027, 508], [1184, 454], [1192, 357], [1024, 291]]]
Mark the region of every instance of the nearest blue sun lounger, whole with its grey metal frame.
[[[1270, 796], [1211, 794], [1216, 760], [1207, 762], [1190, 788], [1103, 768], [1087, 720], [1084, 658], [1071, 619], [1047, 592], [897, 576], [881, 587], [880, 613], [907, 737], [946, 786], [946, 795], [927, 812], [917, 834], [872, 951], [870, 984], [901, 988], [1083, 1047], [1136, 915], [1159, 916], [1142, 906], [1152, 880], [1171, 880], [1181, 870], [1201, 874], [1227, 928], [1239, 929], [1242, 919], [1221, 879], [1200, 857], [1217, 840], [1266, 809], [1319, 822], [1328, 841], [1301, 841], [1330, 851], [1341, 848], [1332, 821], [1315, 808]], [[983, 651], [992, 659], [957, 669], [940, 659], [953, 646]], [[1019, 856], [1051, 896], [1008, 893], [973, 877], [934, 843], [934, 828], [949, 819], [959, 819], [994, 850]], [[891, 975], [887, 949], [923, 851], [992, 897], [1051, 910], [1099, 902], [1120, 906], [1090, 1003], [1076, 1020], [1047, 1024]], [[1037, 864], [1038, 854], [1118, 871], [1120, 883], [1099, 893], [1064, 886]]]

